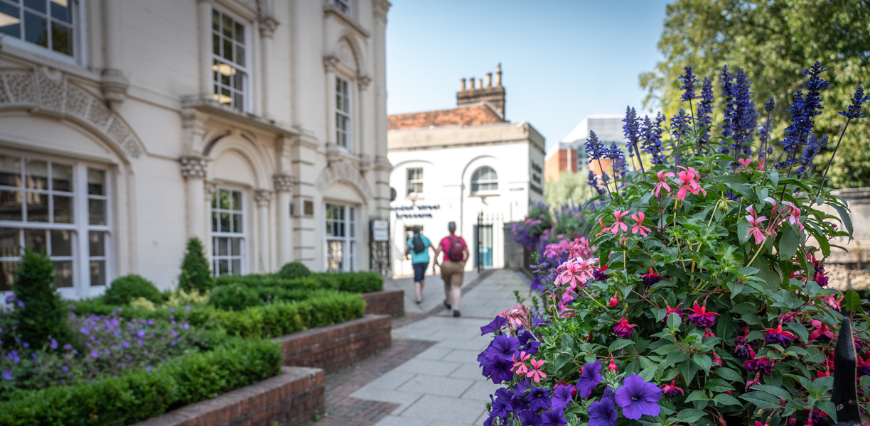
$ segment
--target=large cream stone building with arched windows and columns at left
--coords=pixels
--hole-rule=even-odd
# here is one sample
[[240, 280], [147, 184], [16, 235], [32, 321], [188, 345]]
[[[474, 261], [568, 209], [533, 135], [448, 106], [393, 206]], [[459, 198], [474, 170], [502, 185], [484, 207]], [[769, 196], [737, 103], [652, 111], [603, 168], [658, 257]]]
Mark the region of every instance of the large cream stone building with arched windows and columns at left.
[[386, 0], [0, 0], [0, 291], [367, 270], [386, 216]]

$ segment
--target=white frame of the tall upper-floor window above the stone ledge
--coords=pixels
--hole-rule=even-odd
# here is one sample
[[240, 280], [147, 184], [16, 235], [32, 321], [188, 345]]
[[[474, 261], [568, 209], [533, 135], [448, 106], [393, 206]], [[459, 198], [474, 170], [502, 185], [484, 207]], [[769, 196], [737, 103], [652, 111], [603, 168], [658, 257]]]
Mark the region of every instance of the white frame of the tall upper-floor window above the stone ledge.
[[[219, 30], [214, 29], [213, 19], [214, 19], [215, 13], [218, 13], [218, 15], [221, 17], [220, 18], [220, 22], [222, 25], [221, 28], [223, 28], [223, 22], [224, 22], [223, 17], [224, 16], [229, 17], [234, 24], [238, 23], [243, 27], [243, 29], [244, 29], [244, 43], [239, 43], [238, 40], [235, 40], [234, 38], [228, 39], [226, 36], [224, 36], [223, 31], [219, 31]], [[247, 21], [245, 21], [244, 19], [236, 16], [235, 14], [229, 12], [228, 10], [223, 10], [223, 9], [220, 9], [218, 7], [215, 7], [215, 6], [212, 6], [212, 8], [211, 8], [211, 16], [212, 16], [212, 21], [211, 21], [211, 24], [209, 27], [209, 29], [210, 29], [209, 34], [211, 36], [211, 50], [210, 50], [211, 51], [211, 98], [215, 102], [221, 103], [223, 105], [229, 105], [229, 106], [231, 106], [231, 108], [235, 108], [237, 110], [241, 110], [244, 112], [251, 112], [251, 105], [253, 105], [253, 101], [251, 100], [251, 97], [253, 94], [253, 90], [251, 90], [251, 88], [253, 87], [253, 84], [251, 83], [251, 78], [252, 78], [252, 74], [251, 74], [251, 49], [253, 48], [253, 43], [251, 43], [251, 25]], [[235, 27], [235, 25], [233, 25], [233, 26]], [[233, 29], [233, 31], [235, 31], [235, 28]], [[214, 50], [215, 50], [215, 45], [214, 45], [215, 37], [218, 37], [218, 41], [220, 42], [221, 52], [223, 52], [224, 39], [228, 39], [231, 41], [231, 44], [232, 44], [234, 50], [236, 49], [237, 46], [241, 46], [242, 48], [244, 48], [244, 65], [241, 65], [237, 62], [238, 58], [237, 58], [237, 61], [230, 61], [229, 59], [226, 59], [222, 55], [216, 54], [214, 52]], [[234, 54], [233, 54], [234, 58], [236, 56], [235, 55], [236, 53], [238, 53], [238, 51], [234, 52]], [[242, 90], [238, 90], [237, 88], [227, 86], [226, 84], [224, 84], [220, 81], [220, 75], [222, 75], [222, 74], [226, 75], [224, 73], [224, 71], [232, 73], [231, 74], [231, 82], [232, 82], [232, 78], [233, 78], [232, 76], [235, 76], [238, 73], [241, 73], [241, 75], [242, 75]], [[220, 93], [216, 93], [216, 90], [224, 89], [224, 88], [230, 90], [231, 99], [230, 99], [229, 103], [223, 102], [221, 99], [222, 95]], [[236, 93], [241, 94], [242, 105], [238, 105], [236, 103], [236, 98], [235, 98]]]

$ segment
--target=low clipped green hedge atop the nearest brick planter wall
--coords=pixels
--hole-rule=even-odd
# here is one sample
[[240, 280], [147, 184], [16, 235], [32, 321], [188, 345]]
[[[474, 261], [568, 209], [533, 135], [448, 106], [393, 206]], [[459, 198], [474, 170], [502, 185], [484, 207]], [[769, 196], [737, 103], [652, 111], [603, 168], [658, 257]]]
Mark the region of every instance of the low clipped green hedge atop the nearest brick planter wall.
[[231, 339], [211, 352], [70, 386], [22, 392], [0, 405], [3, 425], [124, 425], [257, 383], [281, 370], [277, 343]]

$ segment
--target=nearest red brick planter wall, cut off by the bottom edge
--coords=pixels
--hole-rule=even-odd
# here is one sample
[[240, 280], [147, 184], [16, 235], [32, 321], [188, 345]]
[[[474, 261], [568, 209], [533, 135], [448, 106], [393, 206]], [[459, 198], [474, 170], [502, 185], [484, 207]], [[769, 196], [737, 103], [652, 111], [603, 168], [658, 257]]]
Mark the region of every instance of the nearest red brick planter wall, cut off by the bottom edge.
[[325, 412], [323, 369], [283, 367], [282, 374], [152, 417], [134, 426], [302, 425]]

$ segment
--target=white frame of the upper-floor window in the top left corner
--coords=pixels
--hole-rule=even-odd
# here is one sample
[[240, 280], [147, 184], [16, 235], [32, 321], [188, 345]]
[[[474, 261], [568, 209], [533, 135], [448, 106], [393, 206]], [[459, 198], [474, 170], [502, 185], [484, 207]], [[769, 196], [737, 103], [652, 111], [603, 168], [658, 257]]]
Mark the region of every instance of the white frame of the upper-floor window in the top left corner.
[[[49, 21], [56, 20], [56, 19], [51, 17], [51, 10], [50, 10], [51, 1], [52, 0], [46, 0], [48, 9], [46, 9], [47, 13], [45, 15], [48, 17]], [[63, 0], [60, 0], [60, 1], [63, 1]], [[14, 47], [17, 47], [17, 48], [22, 49], [22, 50], [31, 51], [31, 52], [36, 53], [38, 55], [42, 55], [43, 57], [50, 57], [51, 59], [54, 59], [54, 60], [57, 60], [60, 62], [70, 63], [72, 65], [77, 65], [77, 66], [83, 66], [83, 64], [85, 63], [85, 60], [86, 60], [85, 51], [84, 51], [84, 40], [85, 40], [84, 27], [86, 25], [86, 18], [85, 18], [85, 13], [84, 13], [85, 8], [84, 8], [84, 4], [83, 4], [84, 0], [65, 0], [65, 1], [70, 4], [70, 13], [72, 14], [72, 19], [70, 19], [71, 22], [69, 23], [70, 31], [72, 32], [72, 56], [66, 55], [64, 53], [61, 53], [61, 52], [58, 52], [55, 50], [51, 50], [50, 47], [40, 46], [37, 43], [30, 43], [30, 42], [24, 40], [24, 37], [23, 37], [24, 36], [24, 28], [23, 28], [24, 23], [23, 22], [20, 22], [20, 24], [22, 25], [22, 27], [21, 27], [22, 37], [17, 38], [17, 37], [9, 36], [8, 34], [0, 33], [0, 37], [3, 38], [3, 43], [9, 44], [10, 46], [14, 46]], [[23, 5], [23, 0], [19, 0], [19, 3], [15, 3], [11, 0], [5, 0], [5, 1], [0, 0], [0, 3], [5, 3], [5, 4], [10, 5], [12, 7], [16, 7], [19, 10], [19, 14], [20, 14], [19, 17], [23, 17], [23, 10], [25, 8], [25, 6]], [[36, 11], [36, 10], [34, 10], [34, 11]], [[42, 12], [37, 12], [37, 14], [42, 15]], [[49, 46], [51, 46], [50, 38], [51, 37], [49, 37]]]

